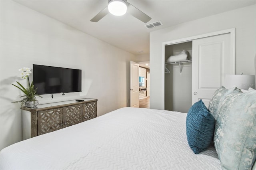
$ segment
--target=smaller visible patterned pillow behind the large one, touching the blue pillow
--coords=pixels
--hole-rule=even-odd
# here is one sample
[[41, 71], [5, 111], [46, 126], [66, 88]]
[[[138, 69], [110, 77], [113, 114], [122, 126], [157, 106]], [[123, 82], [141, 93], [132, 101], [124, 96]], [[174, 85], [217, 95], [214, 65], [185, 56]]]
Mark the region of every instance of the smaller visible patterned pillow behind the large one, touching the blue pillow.
[[232, 93], [236, 89], [237, 87], [226, 89], [225, 87], [221, 86], [214, 92], [212, 98], [210, 99], [208, 110], [210, 111], [215, 120], [218, 119], [218, 110], [220, 109], [220, 106], [226, 95]]

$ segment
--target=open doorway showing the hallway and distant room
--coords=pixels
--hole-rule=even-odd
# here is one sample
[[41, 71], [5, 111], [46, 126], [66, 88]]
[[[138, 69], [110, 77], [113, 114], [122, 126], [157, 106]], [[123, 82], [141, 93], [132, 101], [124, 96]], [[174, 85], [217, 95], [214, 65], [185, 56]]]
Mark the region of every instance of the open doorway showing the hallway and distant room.
[[150, 65], [149, 61], [138, 62], [139, 67], [139, 107], [150, 108]]

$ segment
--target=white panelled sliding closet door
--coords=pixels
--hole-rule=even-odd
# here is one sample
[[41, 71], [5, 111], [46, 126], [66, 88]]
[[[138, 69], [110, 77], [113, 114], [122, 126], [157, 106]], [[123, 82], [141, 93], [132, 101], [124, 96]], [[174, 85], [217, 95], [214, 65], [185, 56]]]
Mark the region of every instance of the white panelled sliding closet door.
[[192, 104], [202, 99], [206, 107], [226, 74], [234, 74], [230, 34], [192, 42]]

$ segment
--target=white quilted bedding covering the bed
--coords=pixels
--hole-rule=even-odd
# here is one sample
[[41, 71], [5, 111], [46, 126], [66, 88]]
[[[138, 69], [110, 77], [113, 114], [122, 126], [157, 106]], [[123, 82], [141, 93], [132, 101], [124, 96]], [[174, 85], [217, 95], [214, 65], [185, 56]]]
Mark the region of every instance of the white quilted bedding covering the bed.
[[194, 154], [186, 113], [122, 108], [4, 148], [1, 169], [216, 170], [215, 149]]

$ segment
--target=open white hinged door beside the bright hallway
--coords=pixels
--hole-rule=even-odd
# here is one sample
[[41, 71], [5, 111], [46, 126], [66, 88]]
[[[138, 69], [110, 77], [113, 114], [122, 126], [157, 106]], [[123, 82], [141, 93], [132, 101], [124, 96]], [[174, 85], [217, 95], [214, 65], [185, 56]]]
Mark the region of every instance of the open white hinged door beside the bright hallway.
[[139, 107], [139, 64], [130, 61], [130, 107]]

